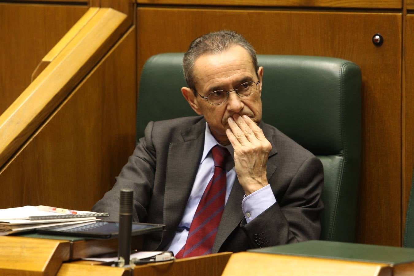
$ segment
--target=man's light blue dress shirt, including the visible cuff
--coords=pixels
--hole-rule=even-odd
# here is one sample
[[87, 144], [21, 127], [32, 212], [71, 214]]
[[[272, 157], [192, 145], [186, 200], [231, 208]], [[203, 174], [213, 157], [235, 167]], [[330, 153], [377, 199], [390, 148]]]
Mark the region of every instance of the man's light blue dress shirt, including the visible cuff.
[[[177, 254], [177, 252], [180, 251], [181, 248], [185, 245], [188, 231], [190, 230], [191, 222], [193, 221], [197, 206], [200, 203], [200, 199], [204, 193], [205, 188], [207, 187], [214, 174], [214, 161], [211, 154], [211, 149], [217, 144], [219, 143], [211, 134], [210, 128], [206, 123], [204, 150], [201, 156], [197, 175], [195, 176], [193, 189], [191, 190], [187, 206], [185, 206], [183, 218], [181, 219], [181, 222], [176, 229], [176, 233], [170, 244], [167, 245], [164, 250], [172, 251], [174, 254]], [[230, 144], [229, 146], [226, 146], [226, 148], [229, 150], [231, 156], [233, 156], [233, 146]], [[236, 176], [236, 170], [233, 166], [233, 168], [226, 173], [225, 204], [227, 202], [227, 199], [229, 199], [231, 188], [233, 187]], [[270, 185], [267, 185], [266, 187], [263, 187], [260, 190], [257, 190], [248, 196], [245, 196], [241, 203], [241, 209], [243, 210], [246, 222], [249, 223], [252, 221], [255, 217], [260, 215], [275, 202], [276, 199], [274, 197], [272, 189], [270, 188]]]

